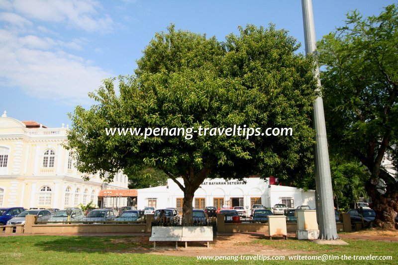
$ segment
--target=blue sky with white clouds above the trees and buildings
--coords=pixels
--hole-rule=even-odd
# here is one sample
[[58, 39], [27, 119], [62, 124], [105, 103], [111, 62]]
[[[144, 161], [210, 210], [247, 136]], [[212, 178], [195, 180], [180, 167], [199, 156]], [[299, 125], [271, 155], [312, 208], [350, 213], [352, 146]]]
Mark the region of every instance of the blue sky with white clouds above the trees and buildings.
[[[393, 0], [313, 0], [317, 40], [347, 12], [377, 15]], [[284, 28], [303, 43], [300, 0], [0, 0], [0, 111], [48, 127], [70, 123], [101, 80], [132, 74], [170, 23], [218, 40], [238, 25]], [[304, 45], [299, 52], [304, 53]]]

